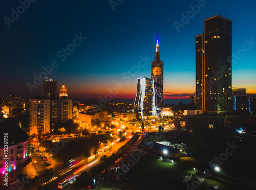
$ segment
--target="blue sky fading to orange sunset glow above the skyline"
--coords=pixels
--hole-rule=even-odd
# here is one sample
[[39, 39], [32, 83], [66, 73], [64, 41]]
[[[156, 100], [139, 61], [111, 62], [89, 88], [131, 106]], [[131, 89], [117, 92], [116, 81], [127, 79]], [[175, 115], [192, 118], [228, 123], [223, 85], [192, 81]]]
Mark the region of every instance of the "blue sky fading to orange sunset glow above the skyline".
[[[64, 83], [70, 98], [99, 98], [119, 85], [112, 98], [135, 98], [137, 77], [151, 77], [159, 32], [164, 98], [188, 98], [195, 92], [195, 36], [204, 32], [204, 19], [217, 14], [232, 20], [232, 53], [240, 55], [233, 57], [232, 87], [256, 93], [255, 1], [33, 1], [27, 8], [19, 1], [0, 3], [2, 97], [42, 95], [43, 82], [35, 84], [34, 76], [44, 77], [42, 66], [53, 62], [58, 93]], [[199, 2], [193, 15], [191, 6]], [[189, 11], [178, 32], [174, 23], [182, 24], [181, 14]], [[243, 51], [246, 40], [252, 43]], [[65, 57], [67, 47], [72, 52]]]

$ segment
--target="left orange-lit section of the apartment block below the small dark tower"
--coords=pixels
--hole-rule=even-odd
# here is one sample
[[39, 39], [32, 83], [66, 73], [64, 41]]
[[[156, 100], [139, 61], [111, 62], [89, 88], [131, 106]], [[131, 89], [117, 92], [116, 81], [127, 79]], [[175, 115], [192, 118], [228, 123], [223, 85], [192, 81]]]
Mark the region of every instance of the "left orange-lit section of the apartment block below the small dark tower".
[[50, 133], [50, 99], [30, 100], [30, 135]]

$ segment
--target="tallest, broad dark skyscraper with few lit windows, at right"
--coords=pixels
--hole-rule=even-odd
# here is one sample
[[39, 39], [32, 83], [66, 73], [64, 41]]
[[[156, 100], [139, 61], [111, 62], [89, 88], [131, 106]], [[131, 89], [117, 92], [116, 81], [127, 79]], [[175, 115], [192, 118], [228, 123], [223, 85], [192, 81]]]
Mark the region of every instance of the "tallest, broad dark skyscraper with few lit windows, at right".
[[196, 109], [232, 109], [232, 20], [216, 15], [204, 20], [204, 34], [196, 36]]

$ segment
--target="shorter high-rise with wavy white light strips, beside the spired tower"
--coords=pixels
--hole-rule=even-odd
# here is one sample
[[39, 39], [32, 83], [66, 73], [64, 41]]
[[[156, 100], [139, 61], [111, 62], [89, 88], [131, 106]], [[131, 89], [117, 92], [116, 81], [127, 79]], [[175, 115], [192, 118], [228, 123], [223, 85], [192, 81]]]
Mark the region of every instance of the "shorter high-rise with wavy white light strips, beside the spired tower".
[[154, 79], [139, 77], [137, 81], [137, 95], [134, 102], [134, 112], [139, 113], [143, 120], [145, 116], [156, 115]]

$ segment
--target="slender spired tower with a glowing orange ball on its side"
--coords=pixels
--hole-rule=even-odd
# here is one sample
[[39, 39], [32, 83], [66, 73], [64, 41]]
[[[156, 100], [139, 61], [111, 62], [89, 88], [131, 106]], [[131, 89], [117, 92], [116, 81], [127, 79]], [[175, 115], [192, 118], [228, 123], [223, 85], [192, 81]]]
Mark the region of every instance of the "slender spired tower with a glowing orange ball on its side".
[[160, 60], [158, 32], [155, 60], [151, 63], [151, 78], [154, 79], [156, 107], [163, 107], [163, 62]]

